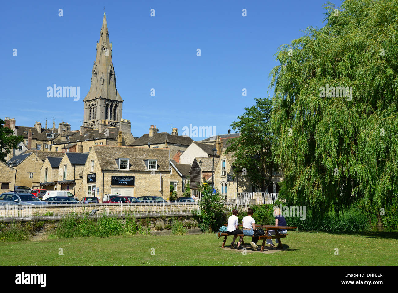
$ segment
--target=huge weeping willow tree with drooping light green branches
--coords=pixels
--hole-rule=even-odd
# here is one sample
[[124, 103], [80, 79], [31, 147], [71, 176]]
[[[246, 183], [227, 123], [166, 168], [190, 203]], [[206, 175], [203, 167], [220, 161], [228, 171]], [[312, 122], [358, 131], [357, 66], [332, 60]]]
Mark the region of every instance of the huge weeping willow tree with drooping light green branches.
[[398, 194], [398, 1], [324, 8], [324, 27], [275, 54], [273, 153], [295, 202], [388, 203]]

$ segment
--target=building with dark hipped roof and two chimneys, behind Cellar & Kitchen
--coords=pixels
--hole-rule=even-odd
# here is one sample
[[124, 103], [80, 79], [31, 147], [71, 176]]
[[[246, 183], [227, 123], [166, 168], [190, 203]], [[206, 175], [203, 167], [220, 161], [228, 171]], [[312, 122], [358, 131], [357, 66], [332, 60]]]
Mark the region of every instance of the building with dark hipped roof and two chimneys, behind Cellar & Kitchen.
[[158, 132], [156, 125], [151, 125], [149, 133], [146, 133], [136, 139], [134, 143], [130, 144], [131, 147], [144, 147], [144, 148], [168, 148], [170, 149], [170, 159], [177, 153], [183, 152], [191, 145], [193, 139], [178, 135], [178, 129], [173, 128], [172, 134], [167, 132]]

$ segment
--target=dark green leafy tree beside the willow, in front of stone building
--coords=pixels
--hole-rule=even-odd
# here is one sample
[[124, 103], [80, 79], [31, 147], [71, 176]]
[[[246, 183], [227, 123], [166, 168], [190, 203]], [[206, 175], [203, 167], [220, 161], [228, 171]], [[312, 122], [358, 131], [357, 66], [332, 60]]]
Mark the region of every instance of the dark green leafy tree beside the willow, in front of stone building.
[[[271, 129], [271, 99], [256, 99], [256, 105], [245, 108], [245, 113], [238, 117], [231, 126], [240, 136], [229, 139], [231, 145], [226, 153], [232, 153], [235, 158], [236, 170], [242, 176], [248, 176], [250, 183], [262, 192], [267, 191], [272, 182], [272, 170], [279, 168], [275, 164], [272, 144], [275, 140]], [[245, 170], [246, 169], [246, 170]]]

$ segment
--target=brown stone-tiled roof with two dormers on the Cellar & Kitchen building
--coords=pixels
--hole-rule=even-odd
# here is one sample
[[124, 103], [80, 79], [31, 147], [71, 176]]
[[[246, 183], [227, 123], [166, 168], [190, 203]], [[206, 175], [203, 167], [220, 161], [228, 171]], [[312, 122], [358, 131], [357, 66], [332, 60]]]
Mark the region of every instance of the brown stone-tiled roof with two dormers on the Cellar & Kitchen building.
[[119, 170], [117, 158], [130, 159], [130, 171], [147, 170], [144, 160], [158, 160], [158, 170], [170, 172], [169, 150], [164, 148], [129, 148], [94, 145], [91, 149], [97, 155], [102, 170]]

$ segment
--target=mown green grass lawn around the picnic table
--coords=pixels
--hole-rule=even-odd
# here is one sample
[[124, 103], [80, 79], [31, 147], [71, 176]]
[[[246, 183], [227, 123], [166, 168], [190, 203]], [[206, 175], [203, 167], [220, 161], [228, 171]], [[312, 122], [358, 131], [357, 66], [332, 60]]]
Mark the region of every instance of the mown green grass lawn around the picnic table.
[[[245, 237], [246, 242], [249, 238]], [[228, 236], [227, 243], [232, 241]], [[289, 231], [290, 250], [223, 250], [215, 234], [82, 237], [0, 243], [0, 265], [397, 265], [398, 232]], [[63, 255], [59, 255], [59, 248]], [[154, 255], [151, 255], [154, 248]], [[335, 255], [335, 248], [339, 255]], [[153, 252], [153, 250], [152, 250]]]

